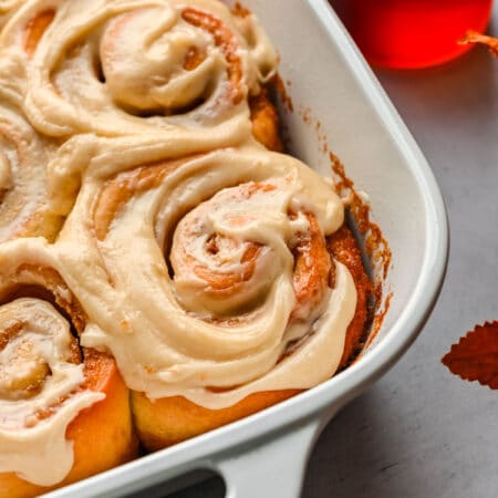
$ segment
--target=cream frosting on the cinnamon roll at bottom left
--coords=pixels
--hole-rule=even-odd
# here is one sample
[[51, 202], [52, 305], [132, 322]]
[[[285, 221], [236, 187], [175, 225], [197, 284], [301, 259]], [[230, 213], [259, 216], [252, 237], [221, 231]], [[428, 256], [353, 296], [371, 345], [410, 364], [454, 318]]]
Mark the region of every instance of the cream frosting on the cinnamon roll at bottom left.
[[[41, 239], [0, 247], [0, 291], [43, 286], [53, 259]], [[44, 270], [42, 270], [44, 269]], [[49, 279], [51, 277], [48, 277]], [[62, 299], [70, 291], [52, 281]], [[102, 393], [82, 388], [83, 365], [68, 319], [53, 303], [20, 297], [0, 307], [0, 473], [17, 473], [42, 486], [60, 483], [73, 466], [69, 424]], [[56, 465], [53, 463], [56, 461]]]

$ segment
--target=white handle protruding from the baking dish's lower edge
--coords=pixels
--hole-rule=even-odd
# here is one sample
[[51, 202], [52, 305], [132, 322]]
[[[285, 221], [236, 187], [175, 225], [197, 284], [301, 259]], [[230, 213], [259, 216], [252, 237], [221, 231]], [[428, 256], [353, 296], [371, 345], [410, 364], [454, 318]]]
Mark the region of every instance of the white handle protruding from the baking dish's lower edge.
[[225, 479], [226, 498], [299, 498], [304, 467], [322, 426], [321, 419], [313, 418], [221, 455], [215, 468]]

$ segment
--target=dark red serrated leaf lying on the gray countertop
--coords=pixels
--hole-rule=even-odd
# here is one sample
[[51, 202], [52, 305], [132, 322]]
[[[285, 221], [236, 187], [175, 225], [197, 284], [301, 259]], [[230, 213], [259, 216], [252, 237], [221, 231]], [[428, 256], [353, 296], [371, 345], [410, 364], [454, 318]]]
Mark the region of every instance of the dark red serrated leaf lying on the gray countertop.
[[452, 373], [498, 390], [498, 322], [476, 325], [442, 359]]

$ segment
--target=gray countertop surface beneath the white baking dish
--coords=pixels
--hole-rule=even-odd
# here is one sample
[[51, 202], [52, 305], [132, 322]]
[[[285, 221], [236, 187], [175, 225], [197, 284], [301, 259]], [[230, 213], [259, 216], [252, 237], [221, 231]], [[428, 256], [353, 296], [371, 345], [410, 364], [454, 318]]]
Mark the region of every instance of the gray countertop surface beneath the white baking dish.
[[[303, 498], [498, 496], [498, 392], [440, 364], [467, 330], [498, 319], [498, 60], [476, 49], [436, 69], [377, 76], [446, 199], [448, 273], [408, 353], [324, 429]], [[220, 479], [172, 495], [220, 496]]]

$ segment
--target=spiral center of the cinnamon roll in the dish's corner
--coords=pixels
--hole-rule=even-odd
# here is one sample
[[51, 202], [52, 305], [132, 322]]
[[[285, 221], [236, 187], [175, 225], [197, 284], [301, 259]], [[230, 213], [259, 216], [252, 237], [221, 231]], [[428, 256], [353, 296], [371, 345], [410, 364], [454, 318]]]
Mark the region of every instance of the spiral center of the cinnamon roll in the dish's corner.
[[[214, 317], [249, 311], [262, 301], [281, 264], [274, 234], [281, 193], [271, 184], [226, 188], [188, 212], [175, 231], [170, 260], [180, 301]], [[261, 209], [268, 209], [260, 226]], [[276, 263], [276, 264], [274, 264]]]

